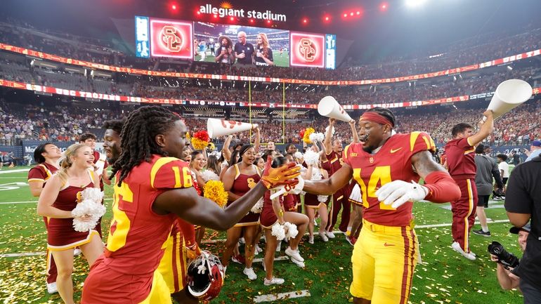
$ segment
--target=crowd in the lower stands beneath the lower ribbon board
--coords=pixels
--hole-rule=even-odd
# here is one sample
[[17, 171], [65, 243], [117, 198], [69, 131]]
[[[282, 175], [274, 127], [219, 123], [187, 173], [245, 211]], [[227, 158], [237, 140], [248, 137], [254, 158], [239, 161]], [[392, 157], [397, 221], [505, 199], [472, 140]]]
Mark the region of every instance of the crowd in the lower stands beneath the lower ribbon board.
[[[180, 112], [181, 110], [179, 110]], [[541, 100], [530, 101], [511, 114], [497, 120], [495, 131], [485, 143], [490, 145], [527, 145], [534, 138], [541, 138], [541, 119], [537, 113], [541, 111]], [[423, 110], [396, 111], [400, 118], [397, 131], [407, 133], [411, 131], [427, 131], [436, 144], [443, 144], [450, 140], [450, 128], [457, 121], [467, 121], [476, 125], [478, 122], [478, 109], [455, 109], [452, 106], [441, 107], [441, 110], [427, 114]], [[86, 110], [78, 107], [65, 107], [58, 105], [24, 105], [18, 103], [0, 103], [0, 145], [18, 145], [19, 140], [58, 140], [77, 141], [83, 133], [96, 133], [100, 136], [103, 131], [100, 126], [107, 119], [121, 119], [128, 110], [115, 108], [97, 108]], [[298, 120], [288, 120], [285, 128], [285, 140], [282, 136], [281, 117], [254, 120], [261, 130], [263, 143], [296, 143], [301, 144], [299, 133], [308, 127], [315, 131], [325, 132], [325, 117], [308, 119], [299, 117]], [[207, 119], [185, 118], [190, 132], [205, 130]], [[278, 123], [277, 123], [278, 122]], [[351, 132], [348, 124], [337, 124], [337, 138], [349, 142]], [[235, 140], [248, 140], [248, 133], [241, 133]], [[216, 140], [221, 143], [221, 140]]]

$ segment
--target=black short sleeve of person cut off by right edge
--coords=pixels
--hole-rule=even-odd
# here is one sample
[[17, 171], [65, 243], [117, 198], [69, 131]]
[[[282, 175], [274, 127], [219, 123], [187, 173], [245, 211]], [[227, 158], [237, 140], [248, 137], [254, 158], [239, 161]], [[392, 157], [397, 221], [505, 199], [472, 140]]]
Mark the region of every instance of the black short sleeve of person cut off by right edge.
[[532, 213], [533, 199], [525, 188], [520, 166], [514, 168], [509, 176], [505, 192], [505, 210], [511, 213]]

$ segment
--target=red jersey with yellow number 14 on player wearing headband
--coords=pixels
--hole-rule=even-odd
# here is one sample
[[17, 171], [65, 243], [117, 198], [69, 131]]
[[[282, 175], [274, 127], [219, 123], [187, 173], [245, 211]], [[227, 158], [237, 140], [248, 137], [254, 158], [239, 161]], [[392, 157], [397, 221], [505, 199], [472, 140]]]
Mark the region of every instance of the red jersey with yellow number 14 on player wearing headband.
[[377, 199], [376, 191], [393, 180], [419, 181], [413, 171], [411, 157], [425, 150], [435, 150], [434, 140], [424, 132], [395, 134], [381, 149], [370, 154], [360, 143], [344, 149], [344, 162], [353, 168], [353, 178], [363, 196], [363, 218], [379, 225], [407, 226], [412, 220], [411, 202], [395, 209]]

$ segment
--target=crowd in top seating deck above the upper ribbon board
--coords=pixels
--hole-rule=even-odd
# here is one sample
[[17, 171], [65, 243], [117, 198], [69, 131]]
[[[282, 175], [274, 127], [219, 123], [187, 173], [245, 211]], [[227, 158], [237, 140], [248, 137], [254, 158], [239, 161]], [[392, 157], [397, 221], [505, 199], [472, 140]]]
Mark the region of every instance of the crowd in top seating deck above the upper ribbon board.
[[[71, 34], [57, 33], [47, 29], [37, 29], [17, 20], [0, 23], [0, 41], [5, 44], [30, 48], [36, 51], [53, 53], [67, 58], [86, 60], [107, 65], [136, 67], [146, 70], [169, 70], [172, 72], [204, 72], [210, 74], [231, 74], [238, 76], [276, 77], [313, 80], [358, 80], [385, 79], [391, 77], [438, 72], [456, 67], [464, 67], [488, 60], [516, 55], [541, 48], [541, 29], [522, 29], [516, 33], [486, 34], [476, 39], [465, 39], [452, 46], [435, 48], [430, 55], [411, 58], [386, 58], [384, 63], [343, 67], [337, 70], [299, 69], [289, 67], [250, 67], [241, 65], [208, 65], [190, 62], [189, 65], [171, 65], [174, 59], [160, 60], [134, 58], [117, 50], [108, 41]], [[178, 60], [177, 60], [178, 61]], [[348, 65], [353, 65], [351, 61]], [[200, 65], [204, 65], [202, 68]]]

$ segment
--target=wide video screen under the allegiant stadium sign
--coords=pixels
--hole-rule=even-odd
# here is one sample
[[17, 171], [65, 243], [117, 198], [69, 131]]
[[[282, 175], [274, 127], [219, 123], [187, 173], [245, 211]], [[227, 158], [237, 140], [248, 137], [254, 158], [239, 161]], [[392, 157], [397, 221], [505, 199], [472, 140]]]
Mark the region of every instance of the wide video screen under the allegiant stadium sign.
[[136, 16], [136, 55], [278, 67], [336, 65], [336, 35]]

